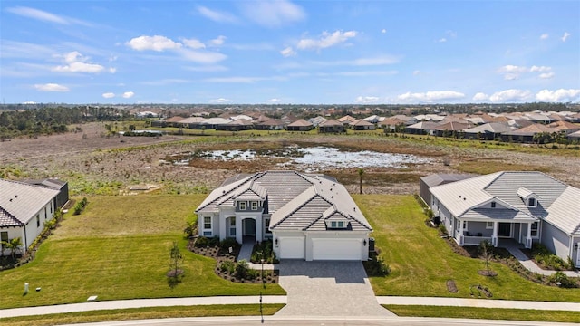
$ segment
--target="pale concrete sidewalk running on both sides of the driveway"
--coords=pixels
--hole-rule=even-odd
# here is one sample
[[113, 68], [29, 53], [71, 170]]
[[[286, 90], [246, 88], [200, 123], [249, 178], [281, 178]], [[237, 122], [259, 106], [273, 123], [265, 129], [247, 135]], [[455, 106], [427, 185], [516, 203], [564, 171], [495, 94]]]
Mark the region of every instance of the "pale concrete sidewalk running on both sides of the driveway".
[[[393, 305], [425, 305], [450, 307], [478, 307], [497, 309], [529, 309], [545, 311], [580, 312], [580, 302], [531, 302], [513, 300], [485, 300], [462, 298], [436, 297], [376, 297], [379, 304]], [[0, 310], [0, 318], [32, 316], [50, 313], [89, 312], [98, 310], [131, 309], [146, 307], [193, 306], [211, 304], [258, 304], [259, 296], [223, 296], [223, 297], [194, 297], [194, 298], [167, 298], [167, 299], [135, 299], [116, 300], [106, 302], [83, 302], [61, 304], [42, 307], [27, 307]], [[285, 295], [265, 295], [262, 303], [287, 303]]]

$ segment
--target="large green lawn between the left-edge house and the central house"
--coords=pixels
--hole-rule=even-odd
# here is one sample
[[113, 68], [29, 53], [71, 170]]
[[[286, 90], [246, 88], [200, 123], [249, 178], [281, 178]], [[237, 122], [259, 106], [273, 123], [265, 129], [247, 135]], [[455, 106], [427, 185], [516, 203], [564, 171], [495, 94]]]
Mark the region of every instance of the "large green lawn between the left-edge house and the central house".
[[[80, 216], [65, 216], [30, 264], [0, 273], [0, 308], [99, 300], [257, 295], [261, 284], [232, 283], [215, 261], [186, 249], [182, 229], [203, 195], [89, 197]], [[185, 256], [181, 283], [169, 286], [169, 246]], [[31, 292], [23, 295], [24, 283]], [[40, 292], [34, 289], [41, 287]], [[264, 294], [284, 294], [268, 284]]]

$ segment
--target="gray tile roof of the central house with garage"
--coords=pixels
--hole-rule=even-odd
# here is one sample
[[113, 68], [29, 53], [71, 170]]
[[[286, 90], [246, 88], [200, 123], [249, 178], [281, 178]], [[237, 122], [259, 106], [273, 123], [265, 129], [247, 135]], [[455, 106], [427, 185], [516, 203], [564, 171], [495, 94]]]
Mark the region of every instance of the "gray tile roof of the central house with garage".
[[272, 229], [322, 230], [326, 218], [343, 216], [353, 230], [372, 231], [346, 188], [333, 177], [295, 171], [256, 173], [218, 187], [196, 212], [233, 206], [236, 197], [266, 199]]

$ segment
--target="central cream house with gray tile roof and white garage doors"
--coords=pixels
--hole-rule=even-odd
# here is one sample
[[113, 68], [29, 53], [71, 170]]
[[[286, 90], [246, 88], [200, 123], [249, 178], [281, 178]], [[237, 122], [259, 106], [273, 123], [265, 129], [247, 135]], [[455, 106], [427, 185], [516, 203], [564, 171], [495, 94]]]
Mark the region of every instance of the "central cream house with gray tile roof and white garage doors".
[[279, 259], [367, 260], [372, 227], [333, 177], [295, 171], [238, 175], [196, 209], [199, 235], [261, 242]]

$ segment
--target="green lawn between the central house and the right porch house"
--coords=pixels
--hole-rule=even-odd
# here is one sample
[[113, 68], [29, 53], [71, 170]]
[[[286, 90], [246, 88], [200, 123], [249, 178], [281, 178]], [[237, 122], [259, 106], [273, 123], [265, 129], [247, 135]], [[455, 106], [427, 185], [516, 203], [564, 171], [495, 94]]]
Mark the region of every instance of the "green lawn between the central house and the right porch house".
[[[493, 299], [580, 302], [580, 289], [560, 289], [527, 281], [502, 264], [492, 264], [496, 277], [478, 274], [482, 260], [453, 253], [424, 224], [426, 216], [412, 196], [353, 195], [374, 228], [372, 236], [392, 273], [372, 277], [376, 295], [469, 298], [469, 286], [487, 286]], [[454, 280], [459, 292], [447, 290]]]

